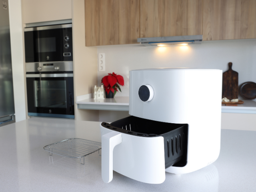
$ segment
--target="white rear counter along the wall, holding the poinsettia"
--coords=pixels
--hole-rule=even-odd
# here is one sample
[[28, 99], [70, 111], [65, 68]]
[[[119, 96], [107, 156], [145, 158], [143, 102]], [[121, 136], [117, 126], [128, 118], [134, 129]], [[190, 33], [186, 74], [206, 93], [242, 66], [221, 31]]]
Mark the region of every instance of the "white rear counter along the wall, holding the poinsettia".
[[[256, 101], [243, 100], [244, 104], [238, 106], [225, 106], [222, 105], [222, 113], [248, 113], [256, 114]], [[76, 101], [78, 109], [93, 109], [93, 110], [116, 110], [116, 111], [129, 111], [129, 97], [115, 97], [112, 99], [94, 99], [87, 98], [84, 100]]]

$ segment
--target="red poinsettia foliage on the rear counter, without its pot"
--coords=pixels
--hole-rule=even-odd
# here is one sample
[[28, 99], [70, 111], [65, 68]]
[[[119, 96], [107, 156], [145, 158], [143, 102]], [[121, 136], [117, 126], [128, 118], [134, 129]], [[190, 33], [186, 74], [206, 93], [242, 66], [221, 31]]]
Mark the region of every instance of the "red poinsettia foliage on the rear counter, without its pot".
[[120, 86], [118, 84], [124, 86], [124, 78], [123, 76], [117, 75], [113, 72], [112, 74], [109, 73], [107, 76], [104, 76], [101, 80], [101, 83], [104, 84], [104, 89], [108, 94], [111, 91], [115, 95], [118, 91], [117, 89], [121, 91]]

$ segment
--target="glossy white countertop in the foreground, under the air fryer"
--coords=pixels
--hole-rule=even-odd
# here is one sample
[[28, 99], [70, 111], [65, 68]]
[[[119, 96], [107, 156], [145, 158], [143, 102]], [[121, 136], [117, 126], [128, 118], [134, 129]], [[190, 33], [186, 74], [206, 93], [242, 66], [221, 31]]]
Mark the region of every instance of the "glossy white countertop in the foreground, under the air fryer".
[[98, 153], [79, 160], [53, 154], [43, 147], [67, 138], [100, 142], [100, 122], [30, 118], [0, 127], [0, 191], [13, 192], [254, 192], [256, 131], [222, 130], [220, 156], [201, 170], [175, 175], [162, 184], [146, 184], [113, 173], [101, 179]]

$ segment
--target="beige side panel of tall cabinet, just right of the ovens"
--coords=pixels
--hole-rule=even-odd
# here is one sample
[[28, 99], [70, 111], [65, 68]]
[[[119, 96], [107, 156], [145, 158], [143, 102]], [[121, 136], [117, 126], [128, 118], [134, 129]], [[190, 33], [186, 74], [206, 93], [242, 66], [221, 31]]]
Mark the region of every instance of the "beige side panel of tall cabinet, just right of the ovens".
[[[84, 0], [72, 0], [72, 32], [74, 62], [74, 98], [92, 93], [97, 84], [97, 48], [85, 46]], [[98, 110], [78, 109], [75, 104], [75, 119], [98, 121]]]

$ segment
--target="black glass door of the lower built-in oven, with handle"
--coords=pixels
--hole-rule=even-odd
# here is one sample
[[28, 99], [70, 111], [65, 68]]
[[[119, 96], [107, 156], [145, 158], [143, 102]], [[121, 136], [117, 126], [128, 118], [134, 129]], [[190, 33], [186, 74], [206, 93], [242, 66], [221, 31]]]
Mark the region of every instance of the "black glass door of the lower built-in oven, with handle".
[[26, 74], [28, 115], [74, 118], [72, 73]]

